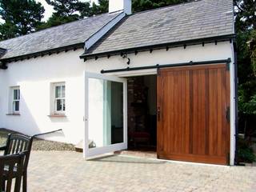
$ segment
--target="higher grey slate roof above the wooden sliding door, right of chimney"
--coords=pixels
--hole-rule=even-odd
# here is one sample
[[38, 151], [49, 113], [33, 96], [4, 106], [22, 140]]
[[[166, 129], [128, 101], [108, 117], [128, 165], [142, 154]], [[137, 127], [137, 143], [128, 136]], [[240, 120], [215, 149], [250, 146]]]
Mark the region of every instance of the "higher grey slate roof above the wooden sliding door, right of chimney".
[[82, 55], [234, 34], [233, 0], [200, 0], [127, 17]]

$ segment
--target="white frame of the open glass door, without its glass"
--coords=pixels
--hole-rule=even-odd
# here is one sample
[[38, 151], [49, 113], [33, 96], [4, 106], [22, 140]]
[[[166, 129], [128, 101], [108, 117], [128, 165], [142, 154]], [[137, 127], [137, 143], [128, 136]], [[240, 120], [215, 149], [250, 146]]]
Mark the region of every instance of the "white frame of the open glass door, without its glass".
[[[122, 82], [123, 83], [123, 142], [112, 144], [110, 146], [102, 146], [89, 148], [89, 81], [88, 78], [98, 78], [103, 80], [108, 80], [112, 82]], [[126, 78], [118, 78], [114, 75], [104, 75], [104, 74], [96, 74], [91, 72], [84, 71], [84, 98], [85, 98], [85, 116], [84, 116], [84, 140], [83, 140], [83, 157], [84, 158], [92, 158], [96, 155], [107, 154], [110, 152], [114, 152], [116, 150], [125, 150], [128, 146], [128, 138], [127, 138], [127, 80]]]

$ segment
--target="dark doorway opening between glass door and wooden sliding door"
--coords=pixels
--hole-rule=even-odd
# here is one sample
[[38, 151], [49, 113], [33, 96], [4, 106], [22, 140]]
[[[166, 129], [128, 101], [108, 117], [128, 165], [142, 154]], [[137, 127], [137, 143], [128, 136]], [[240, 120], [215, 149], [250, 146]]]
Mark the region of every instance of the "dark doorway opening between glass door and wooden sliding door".
[[128, 150], [155, 152], [157, 76], [127, 78]]

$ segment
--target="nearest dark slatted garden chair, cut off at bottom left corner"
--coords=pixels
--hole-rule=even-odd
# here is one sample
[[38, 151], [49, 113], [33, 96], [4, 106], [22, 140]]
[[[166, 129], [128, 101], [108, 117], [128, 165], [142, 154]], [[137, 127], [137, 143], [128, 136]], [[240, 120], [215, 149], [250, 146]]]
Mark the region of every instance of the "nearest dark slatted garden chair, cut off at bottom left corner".
[[[25, 154], [10, 154], [0, 156], [0, 184], [1, 191], [19, 192], [22, 182], [22, 171], [24, 166]], [[13, 181], [15, 184], [13, 185]], [[11, 190], [14, 186], [14, 190]]]

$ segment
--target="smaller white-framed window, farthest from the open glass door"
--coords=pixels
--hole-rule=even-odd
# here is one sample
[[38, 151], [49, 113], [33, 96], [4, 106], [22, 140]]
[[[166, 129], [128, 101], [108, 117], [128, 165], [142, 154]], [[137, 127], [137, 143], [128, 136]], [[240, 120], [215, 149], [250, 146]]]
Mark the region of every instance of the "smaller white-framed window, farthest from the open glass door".
[[19, 86], [10, 88], [10, 109], [12, 114], [19, 114], [21, 93]]

